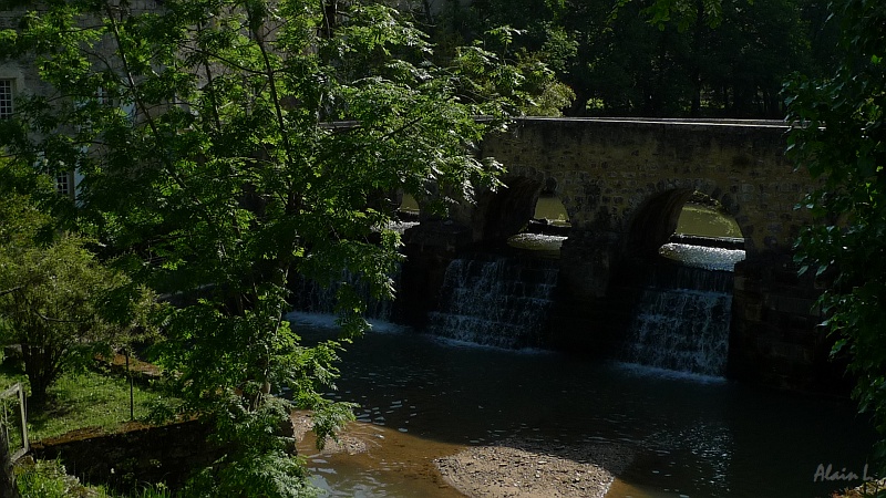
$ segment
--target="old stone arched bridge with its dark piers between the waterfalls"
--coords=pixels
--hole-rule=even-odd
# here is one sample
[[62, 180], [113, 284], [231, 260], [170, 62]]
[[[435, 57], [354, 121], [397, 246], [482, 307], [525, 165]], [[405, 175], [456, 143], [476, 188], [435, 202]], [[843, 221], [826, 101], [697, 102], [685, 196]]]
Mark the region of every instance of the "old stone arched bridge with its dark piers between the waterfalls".
[[433, 293], [433, 282], [442, 279], [443, 264], [429, 263], [440, 251], [429, 258], [429, 247], [452, 251], [501, 242], [534, 216], [543, 190], [553, 191], [571, 228], [560, 251], [558, 301], [565, 304], [550, 336], [560, 347], [604, 349], [618, 342], [630, 314], [626, 273], [656, 259], [682, 206], [700, 191], [734, 217], [746, 252], [734, 273], [728, 375], [842, 391], [843, 370], [828, 361], [830, 344], [816, 330], [820, 290], [799, 278], [792, 262], [793, 240], [810, 222], [794, 206], [814, 185], [784, 157], [785, 132], [780, 122], [519, 120], [482, 145], [484, 156], [507, 168], [507, 188], [481, 195], [436, 229], [427, 225], [423, 236], [406, 238], [410, 258], [424, 261], [411, 277], [415, 290], [427, 293], [430, 287]]

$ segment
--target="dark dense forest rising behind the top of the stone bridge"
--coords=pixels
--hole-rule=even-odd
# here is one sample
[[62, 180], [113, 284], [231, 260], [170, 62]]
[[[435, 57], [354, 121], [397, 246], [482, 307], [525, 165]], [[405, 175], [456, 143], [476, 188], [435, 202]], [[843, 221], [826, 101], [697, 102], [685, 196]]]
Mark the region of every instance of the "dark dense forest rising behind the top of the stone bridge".
[[[439, 53], [482, 40], [565, 86], [535, 89], [537, 113], [783, 118], [794, 72], [835, 68], [837, 22], [822, 0], [427, 0], [413, 6]], [[651, 21], [651, 22], [650, 22]], [[529, 71], [526, 74], [532, 74]], [[539, 91], [540, 90], [540, 91]], [[570, 98], [571, 97], [571, 98]]]

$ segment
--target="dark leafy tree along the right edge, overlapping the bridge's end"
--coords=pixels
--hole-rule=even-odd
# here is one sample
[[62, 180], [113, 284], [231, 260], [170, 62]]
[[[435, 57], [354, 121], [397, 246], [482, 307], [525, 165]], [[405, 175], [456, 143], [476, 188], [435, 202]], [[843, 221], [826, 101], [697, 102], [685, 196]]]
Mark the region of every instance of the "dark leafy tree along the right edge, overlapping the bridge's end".
[[[800, 237], [797, 260], [828, 284], [820, 304], [833, 353], [848, 356], [859, 408], [886, 436], [886, 4], [843, 0], [834, 9], [839, 68], [785, 87], [789, 152], [821, 181], [804, 201], [818, 224]], [[877, 454], [886, 456], [883, 442]]]

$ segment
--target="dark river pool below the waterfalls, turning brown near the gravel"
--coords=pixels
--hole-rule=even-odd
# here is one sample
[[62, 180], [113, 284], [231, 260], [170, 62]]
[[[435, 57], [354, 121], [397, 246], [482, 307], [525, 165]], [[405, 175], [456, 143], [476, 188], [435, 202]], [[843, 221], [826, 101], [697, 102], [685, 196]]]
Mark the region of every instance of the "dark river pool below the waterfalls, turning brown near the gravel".
[[[307, 341], [334, 335], [328, 317], [293, 320]], [[817, 466], [861, 476], [873, 440], [846, 400], [385, 324], [349, 346], [341, 373], [329, 395], [360, 404], [353, 429], [378, 444], [361, 456], [302, 448], [328, 496], [457, 496], [433, 458], [518, 436], [633, 448], [610, 497], [824, 497], [843, 483], [814, 481]]]

